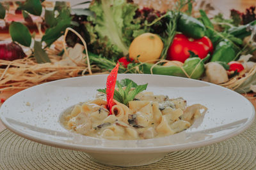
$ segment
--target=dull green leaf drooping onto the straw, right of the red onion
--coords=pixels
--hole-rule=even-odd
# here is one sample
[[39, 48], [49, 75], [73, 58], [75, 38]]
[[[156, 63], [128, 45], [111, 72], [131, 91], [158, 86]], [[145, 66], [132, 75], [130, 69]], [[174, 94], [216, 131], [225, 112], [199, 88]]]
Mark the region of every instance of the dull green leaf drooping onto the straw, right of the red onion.
[[34, 50], [35, 59], [37, 63], [51, 62], [47, 53], [44, 50], [42, 50], [42, 44], [40, 41], [35, 41]]

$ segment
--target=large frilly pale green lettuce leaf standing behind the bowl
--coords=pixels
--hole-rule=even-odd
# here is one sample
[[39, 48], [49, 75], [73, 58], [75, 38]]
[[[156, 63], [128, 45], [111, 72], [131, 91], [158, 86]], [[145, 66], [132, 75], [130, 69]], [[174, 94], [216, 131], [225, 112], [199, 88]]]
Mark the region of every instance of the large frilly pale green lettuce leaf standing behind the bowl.
[[90, 32], [90, 45], [94, 53], [106, 57], [127, 55], [134, 30], [140, 24], [132, 22], [138, 5], [126, 0], [94, 0], [90, 4], [94, 16], [88, 17], [86, 29]]

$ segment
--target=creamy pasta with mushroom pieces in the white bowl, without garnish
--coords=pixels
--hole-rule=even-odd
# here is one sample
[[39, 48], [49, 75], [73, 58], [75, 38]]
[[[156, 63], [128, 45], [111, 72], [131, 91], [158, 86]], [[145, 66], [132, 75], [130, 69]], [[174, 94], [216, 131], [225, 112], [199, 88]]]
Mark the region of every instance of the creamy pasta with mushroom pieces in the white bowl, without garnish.
[[182, 97], [169, 99], [152, 92], [140, 92], [127, 105], [114, 103], [109, 115], [106, 94], [99, 92], [95, 100], [74, 106], [62, 124], [95, 138], [150, 139], [184, 131], [207, 111], [201, 104], [187, 106]]

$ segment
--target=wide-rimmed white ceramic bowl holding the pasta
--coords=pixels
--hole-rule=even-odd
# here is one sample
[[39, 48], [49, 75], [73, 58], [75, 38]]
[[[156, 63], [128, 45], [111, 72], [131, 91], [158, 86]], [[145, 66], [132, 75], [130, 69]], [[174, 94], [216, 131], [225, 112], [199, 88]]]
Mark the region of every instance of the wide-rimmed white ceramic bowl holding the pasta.
[[11, 131], [45, 145], [79, 150], [97, 162], [113, 166], [141, 166], [157, 162], [169, 152], [211, 145], [244, 131], [253, 122], [255, 109], [236, 92], [204, 81], [150, 74], [118, 74], [148, 83], [147, 91], [184, 97], [188, 105], [208, 108], [189, 129], [164, 138], [144, 140], [96, 139], [69, 132], [60, 124], [63, 111], [93, 99], [106, 85], [108, 75], [52, 81], [23, 90], [6, 100], [0, 118]]

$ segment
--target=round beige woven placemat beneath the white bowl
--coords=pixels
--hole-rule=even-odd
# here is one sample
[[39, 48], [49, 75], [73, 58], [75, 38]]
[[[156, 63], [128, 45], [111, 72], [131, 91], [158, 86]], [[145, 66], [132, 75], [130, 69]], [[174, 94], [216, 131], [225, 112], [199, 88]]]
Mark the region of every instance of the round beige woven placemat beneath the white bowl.
[[6, 129], [0, 133], [0, 169], [256, 169], [256, 121], [221, 143], [172, 152], [154, 164], [129, 168], [102, 165], [84, 152], [35, 143]]

